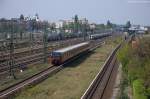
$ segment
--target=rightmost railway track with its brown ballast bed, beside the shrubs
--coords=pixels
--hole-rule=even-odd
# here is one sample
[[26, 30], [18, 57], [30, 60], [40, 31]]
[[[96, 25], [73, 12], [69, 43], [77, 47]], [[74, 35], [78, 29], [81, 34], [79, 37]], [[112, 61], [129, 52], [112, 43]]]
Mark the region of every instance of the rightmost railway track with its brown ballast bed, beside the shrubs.
[[112, 84], [118, 68], [116, 52], [121, 44], [111, 53], [81, 99], [109, 99], [112, 92]]

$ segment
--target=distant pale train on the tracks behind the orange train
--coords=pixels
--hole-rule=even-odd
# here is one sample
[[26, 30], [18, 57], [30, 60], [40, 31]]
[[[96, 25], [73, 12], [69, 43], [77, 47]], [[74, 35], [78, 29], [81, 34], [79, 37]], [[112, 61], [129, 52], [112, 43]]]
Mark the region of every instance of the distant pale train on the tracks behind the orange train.
[[103, 37], [111, 36], [111, 33], [100, 33], [100, 34], [92, 34], [89, 36], [90, 40], [96, 40]]

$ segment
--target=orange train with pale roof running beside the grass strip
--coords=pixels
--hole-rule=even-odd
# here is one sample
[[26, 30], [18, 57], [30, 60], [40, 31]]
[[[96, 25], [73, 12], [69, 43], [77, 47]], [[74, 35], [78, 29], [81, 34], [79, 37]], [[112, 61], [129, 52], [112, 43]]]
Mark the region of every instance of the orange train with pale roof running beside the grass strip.
[[51, 63], [55, 66], [58, 66], [64, 63], [65, 61], [69, 60], [70, 58], [87, 51], [89, 48], [89, 42], [84, 42], [53, 51], [51, 53]]

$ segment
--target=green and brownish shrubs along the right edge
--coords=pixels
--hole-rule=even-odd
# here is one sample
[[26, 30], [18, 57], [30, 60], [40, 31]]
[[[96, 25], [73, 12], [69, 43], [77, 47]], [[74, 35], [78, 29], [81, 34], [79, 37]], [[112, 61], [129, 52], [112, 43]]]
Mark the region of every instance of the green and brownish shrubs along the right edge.
[[150, 99], [150, 38], [140, 39], [137, 48], [125, 44], [118, 58], [123, 75], [133, 88], [134, 99]]

